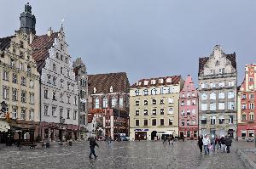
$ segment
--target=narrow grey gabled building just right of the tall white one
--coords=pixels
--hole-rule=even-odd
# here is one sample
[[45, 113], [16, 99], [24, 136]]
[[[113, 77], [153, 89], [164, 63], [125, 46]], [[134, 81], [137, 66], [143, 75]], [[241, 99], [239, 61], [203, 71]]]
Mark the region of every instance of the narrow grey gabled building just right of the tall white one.
[[86, 66], [81, 58], [73, 62], [73, 71], [79, 87], [79, 130], [81, 131], [81, 138], [85, 138], [88, 118], [88, 76]]

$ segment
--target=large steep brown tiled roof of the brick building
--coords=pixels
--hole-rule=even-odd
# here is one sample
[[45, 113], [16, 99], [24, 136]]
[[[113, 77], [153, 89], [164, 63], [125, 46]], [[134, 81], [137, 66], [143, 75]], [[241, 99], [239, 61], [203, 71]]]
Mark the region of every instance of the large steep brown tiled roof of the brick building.
[[97, 74], [88, 76], [89, 93], [110, 93], [110, 87], [113, 87], [113, 92], [127, 92], [130, 84], [125, 72]]

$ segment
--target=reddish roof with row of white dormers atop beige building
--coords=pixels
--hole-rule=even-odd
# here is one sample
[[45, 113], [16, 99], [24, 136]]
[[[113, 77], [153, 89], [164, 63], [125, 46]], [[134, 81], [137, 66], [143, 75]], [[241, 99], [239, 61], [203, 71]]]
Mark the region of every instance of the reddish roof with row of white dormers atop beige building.
[[[172, 79], [172, 82], [167, 82], [166, 80], [168, 78]], [[159, 80], [163, 79], [164, 82], [160, 83]], [[151, 84], [151, 81], [155, 80], [155, 84]], [[144, 81], [148, 81], [148, 85], [144, 85]], [[150, 78], [150, 79], [141, 79], [138, 82], [141, 82], [141, 84], [134, 83], [131, 85], [131, 87], [156, 87], [156, 86], [163, 86], [163, 85], [171, 85], [171, 84], [178, 84], [181, 81], [181, 76], [166, 76], [166, 77], [156, 77], [156, 78]]]

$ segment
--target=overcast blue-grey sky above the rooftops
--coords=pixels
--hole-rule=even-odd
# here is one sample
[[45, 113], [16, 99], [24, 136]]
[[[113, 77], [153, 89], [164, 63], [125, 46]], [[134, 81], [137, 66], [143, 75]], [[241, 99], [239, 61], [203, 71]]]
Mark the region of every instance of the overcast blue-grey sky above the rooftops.
[[61, 20], [73, 59], [89, 74], [125, 71], [130, 83], [142, 78], [193, 76], [198, 58], [216, 44], [236, 52], [238, 82], [244, 66], [256, 63], [255, 0], [0, 0], [0, 37], [20, 27], [27, 2], [37, 18], [38, 35]]

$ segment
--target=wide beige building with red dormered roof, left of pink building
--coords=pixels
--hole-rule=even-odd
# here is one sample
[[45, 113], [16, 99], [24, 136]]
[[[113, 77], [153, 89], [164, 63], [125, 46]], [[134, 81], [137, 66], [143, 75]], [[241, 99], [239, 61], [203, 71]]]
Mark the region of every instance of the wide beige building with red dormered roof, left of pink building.
[[130, 138], [154, 140], [178, 134], [181, 76], [143, 79], [130, 89]]

